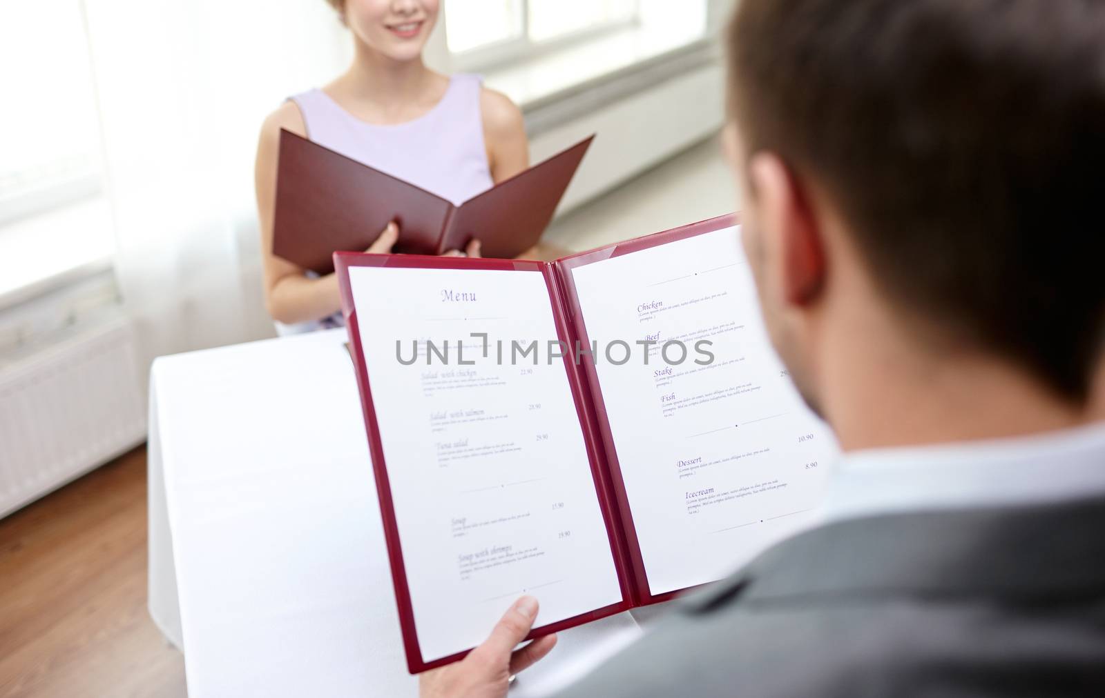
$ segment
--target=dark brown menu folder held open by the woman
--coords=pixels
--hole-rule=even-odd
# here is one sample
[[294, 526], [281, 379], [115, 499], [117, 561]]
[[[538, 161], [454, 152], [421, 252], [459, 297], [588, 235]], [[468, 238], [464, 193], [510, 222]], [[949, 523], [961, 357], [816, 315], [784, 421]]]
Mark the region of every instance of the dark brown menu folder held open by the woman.
[[476, 237], [483, 256], [516, 257], [537, 244], [593, 138], [457, 207], [282, 129], [273, 254], [328, 274], [334, 252], [362, 252], [396, 221], [396, 252], [442, 254]]

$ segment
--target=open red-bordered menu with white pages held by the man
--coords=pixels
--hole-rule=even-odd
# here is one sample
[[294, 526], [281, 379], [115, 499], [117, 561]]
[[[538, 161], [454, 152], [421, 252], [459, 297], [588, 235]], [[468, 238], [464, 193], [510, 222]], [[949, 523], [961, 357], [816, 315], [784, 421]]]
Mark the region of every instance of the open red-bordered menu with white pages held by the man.
[[522, 594], [537, 637], [811, 524], [836, 446], [771, 349], [738, 230], [552, 263], [335, 255], [411, 673]]

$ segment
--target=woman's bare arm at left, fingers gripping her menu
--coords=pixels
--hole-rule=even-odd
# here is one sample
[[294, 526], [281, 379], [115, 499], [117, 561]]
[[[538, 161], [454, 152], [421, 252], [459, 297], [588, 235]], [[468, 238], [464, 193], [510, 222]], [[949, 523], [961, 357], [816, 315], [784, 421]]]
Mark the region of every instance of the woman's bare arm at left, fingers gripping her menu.
[[[307, 278], [304, 269], [272, 253], [273, 213], [276, 201], [276, 160], [282, 128], [306, 137], [299, 108], [285, 102], [265, 119], [257, 144], [254, 181], [257, 190], [257, 216], [261, 220], [261, 263], [265, 284], [265, 307], [274, 320], [292, 325], [325, 318], [341, 309], [337, 274]], [[399, 236], [394, 224], [389, 225], [368, 248], [369, 252], [391, 252]]]

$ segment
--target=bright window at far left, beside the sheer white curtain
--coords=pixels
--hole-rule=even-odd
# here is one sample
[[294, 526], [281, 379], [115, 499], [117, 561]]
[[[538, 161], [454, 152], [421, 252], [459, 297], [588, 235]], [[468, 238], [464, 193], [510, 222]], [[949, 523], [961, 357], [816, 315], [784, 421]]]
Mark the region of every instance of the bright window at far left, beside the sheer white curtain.
[[80, 0], [0, 3], [0, 65], [2, 299], [114, 242]]

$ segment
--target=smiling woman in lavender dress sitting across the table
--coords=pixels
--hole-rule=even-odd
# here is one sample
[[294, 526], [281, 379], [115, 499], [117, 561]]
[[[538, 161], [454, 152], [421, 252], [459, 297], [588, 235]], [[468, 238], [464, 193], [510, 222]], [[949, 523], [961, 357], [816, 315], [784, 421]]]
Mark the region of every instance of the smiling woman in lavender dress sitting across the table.
[[[341, 322], [336, 276], [318, 277], [272, 254], [281, 129], [404, 179], [454, 203], [528, 166], [519, 109], [475, 75], [446, 76], [422, 60], [439, 0], [327, 0], [354, 41], [349, 68], [294, 95], [262, 128], [256, 158], [265, 299], [281, 331]], [[390, 252], [391, 224], [369, 252]], [[477, 241], [464, 253], [477, 255]], [[459, 254], [460, 252], [453, 252]]]

